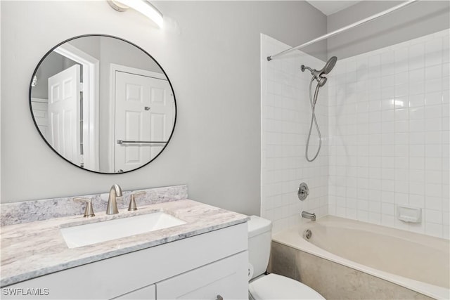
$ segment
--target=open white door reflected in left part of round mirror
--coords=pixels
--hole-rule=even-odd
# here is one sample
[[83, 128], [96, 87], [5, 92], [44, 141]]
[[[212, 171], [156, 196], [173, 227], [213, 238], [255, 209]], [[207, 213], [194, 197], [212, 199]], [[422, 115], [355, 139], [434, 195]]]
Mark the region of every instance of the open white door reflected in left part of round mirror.
[[49, 78], [49, 141], [65, 159], [80, 165], [79, 65]]

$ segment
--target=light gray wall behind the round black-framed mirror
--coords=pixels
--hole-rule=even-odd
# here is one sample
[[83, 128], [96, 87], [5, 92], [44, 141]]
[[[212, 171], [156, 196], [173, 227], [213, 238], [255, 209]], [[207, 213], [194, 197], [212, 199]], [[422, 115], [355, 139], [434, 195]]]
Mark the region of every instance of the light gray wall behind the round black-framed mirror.
[[[259, 33], [297, 45], [326, 33], [303, 1], [162, 1], [164, 30], [106, 1], [1, 1], [1, 202], [187, 183], [193, 200], [245, 214], [260, 205]], [[82, 12], [82, 13], [74, 13]], [[39, 59], [80, 34], [127, 39], [167, 72], [178, 117], [160, 157], [128, 174], [102, 175], [63, 161], [30, 117], [28, 85]], [[310, 49], [324, 59], [326, 45]]]

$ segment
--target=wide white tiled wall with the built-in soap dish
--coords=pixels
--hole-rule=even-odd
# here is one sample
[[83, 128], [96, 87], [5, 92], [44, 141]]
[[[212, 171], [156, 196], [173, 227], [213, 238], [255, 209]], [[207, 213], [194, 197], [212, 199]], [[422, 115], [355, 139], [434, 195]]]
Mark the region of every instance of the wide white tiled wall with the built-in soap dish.
[[[328, 211], [449, 238], [449, 30], [338, 60]], [[404, 223], [397, 205], [422, 209]]]

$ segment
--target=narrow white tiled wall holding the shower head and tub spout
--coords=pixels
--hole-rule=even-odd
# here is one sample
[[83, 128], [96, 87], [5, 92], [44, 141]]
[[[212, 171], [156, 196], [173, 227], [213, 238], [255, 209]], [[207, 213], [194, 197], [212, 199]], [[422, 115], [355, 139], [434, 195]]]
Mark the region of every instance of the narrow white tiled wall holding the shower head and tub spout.
[[[261, 35], [262, 86], [262, 190], [261, 216], [273, 221], [273, 233], [302, 222], [302, 210], [317, 216], [328, 214], [328, 96], [319, 91], [316, 117], [323, 145], [314, 162], [304, 158], [311, 122], [309, 104], [309, 72], [301, 72], [302, 64], [323, 67], [323, 61], [307, 54], [266, 60], [267, 56], [290, 46], [264, 34]], [[313, 85], [315, 88], [315, 84]], [[315, 128], [311, 136], [310, 157], [318, 145]], [[309, 197], [300, 202], [300, 183], [309, 185]], [[303, 219], [304, 220], [304, 219]]]

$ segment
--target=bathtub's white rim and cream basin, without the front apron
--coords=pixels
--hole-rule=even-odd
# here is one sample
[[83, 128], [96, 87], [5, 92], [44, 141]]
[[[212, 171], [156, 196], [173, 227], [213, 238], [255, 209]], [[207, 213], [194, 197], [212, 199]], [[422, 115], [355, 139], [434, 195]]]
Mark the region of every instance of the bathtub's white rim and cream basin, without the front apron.
[[[307, 229], [310, 240], [303, 237]], [[450, 296], [449, 240], [335, 216], [284, 230], [273, 240], [435, 299]]]

